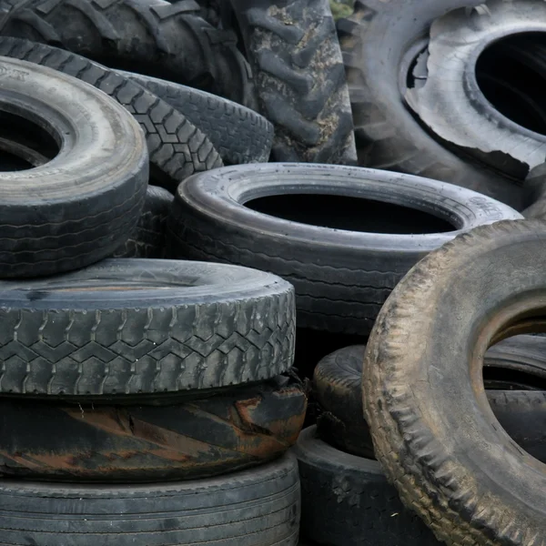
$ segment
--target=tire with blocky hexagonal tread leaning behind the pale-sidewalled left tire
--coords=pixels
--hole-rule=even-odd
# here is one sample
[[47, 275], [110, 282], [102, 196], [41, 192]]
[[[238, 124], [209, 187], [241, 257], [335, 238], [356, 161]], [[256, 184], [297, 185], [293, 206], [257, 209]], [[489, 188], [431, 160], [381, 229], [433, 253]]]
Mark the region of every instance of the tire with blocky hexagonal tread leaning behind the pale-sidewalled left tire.
[[18, 38], [0, 37], [0, 55], [48, 66], [75, 76], [114, 98], [144, 130], [150, 175], [174, 193], [179, 182], [197, 171], [223, 165], [221, 157], [196, 126], [142, 86], [74, 53]]

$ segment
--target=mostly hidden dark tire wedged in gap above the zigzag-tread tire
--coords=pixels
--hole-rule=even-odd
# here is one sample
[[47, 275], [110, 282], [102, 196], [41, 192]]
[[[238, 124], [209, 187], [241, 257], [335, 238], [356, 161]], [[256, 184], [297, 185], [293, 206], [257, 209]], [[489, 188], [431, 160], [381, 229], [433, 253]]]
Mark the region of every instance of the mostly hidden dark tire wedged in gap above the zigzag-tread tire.
[[112, 258], [165, 258], [167, 217], [175, 197], [167, 189], [148, 186], [144, 208], [130, 238]]

